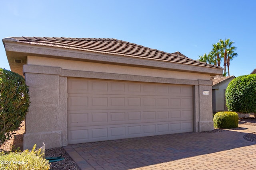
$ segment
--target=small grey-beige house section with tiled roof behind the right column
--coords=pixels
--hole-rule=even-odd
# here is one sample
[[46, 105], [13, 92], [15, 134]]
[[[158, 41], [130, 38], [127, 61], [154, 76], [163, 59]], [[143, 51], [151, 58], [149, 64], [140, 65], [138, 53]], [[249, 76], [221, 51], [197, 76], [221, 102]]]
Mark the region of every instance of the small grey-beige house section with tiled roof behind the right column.
[[229, 82], [233, 80], [235, 76], [211, 76], [212, 80], [212, 112], [215, 114], [219, 111], [228, 111], [226, 107], [226, 88]]

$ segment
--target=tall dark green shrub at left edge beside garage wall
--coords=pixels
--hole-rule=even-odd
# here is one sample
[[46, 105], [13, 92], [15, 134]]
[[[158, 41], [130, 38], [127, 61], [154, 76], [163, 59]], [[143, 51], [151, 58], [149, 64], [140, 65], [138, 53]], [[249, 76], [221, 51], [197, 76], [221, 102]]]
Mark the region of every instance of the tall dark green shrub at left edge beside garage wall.
[[24, 120], [29, 106], [28, 86], [15, 72], [0, 68], [0, 145]]

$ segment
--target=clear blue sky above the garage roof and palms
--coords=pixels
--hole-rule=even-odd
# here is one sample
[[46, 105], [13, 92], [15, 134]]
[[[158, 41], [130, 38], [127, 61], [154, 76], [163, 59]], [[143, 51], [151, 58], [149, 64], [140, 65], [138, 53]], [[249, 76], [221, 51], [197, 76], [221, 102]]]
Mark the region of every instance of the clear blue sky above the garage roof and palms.
[[[230, 38], [238, 53], [230, 74], [256, 68], [254, 0], [1, 0], [0, 6], [1, 39], [116, 38], [196, 60]], [[3, 43], [0, 67], [10, 70]]]

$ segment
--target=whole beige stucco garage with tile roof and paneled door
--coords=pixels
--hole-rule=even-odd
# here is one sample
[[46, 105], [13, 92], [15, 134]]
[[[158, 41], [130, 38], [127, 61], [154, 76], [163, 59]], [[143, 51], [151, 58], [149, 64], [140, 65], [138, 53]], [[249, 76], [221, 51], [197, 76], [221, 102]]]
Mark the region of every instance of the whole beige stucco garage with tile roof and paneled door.
[[9, 37], [31, 104], [24, 149], [213, 129], [222, 68], [117, 39]]

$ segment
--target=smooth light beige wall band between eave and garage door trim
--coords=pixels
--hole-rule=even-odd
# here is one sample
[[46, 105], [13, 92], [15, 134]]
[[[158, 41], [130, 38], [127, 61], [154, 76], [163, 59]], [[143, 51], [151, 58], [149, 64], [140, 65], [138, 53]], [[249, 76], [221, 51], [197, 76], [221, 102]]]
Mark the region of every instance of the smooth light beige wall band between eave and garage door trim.
[[40, 65], [40, 66], [54, 66], [66, 70], [81, 70], [81, 71], [94, 71], [94, 72], [108, 72], [128, 75], [139, 76], [152, 76], [163, 78], [177, 78], [185, 80], [210, 80], [208, 74], [199, 74], [191, 72], [178, 72], [171, 70], [159, 70], [151, 68], [140, 68], [132, 66], [121, 66], [112, 64], [91, 63], [82, 61], [70, 61], [64, 59], [52, 59], [46, 57], [28, 56], [27, 64]]

